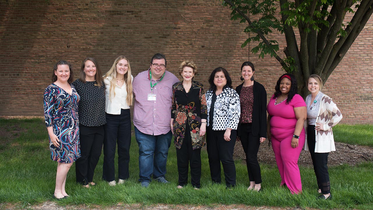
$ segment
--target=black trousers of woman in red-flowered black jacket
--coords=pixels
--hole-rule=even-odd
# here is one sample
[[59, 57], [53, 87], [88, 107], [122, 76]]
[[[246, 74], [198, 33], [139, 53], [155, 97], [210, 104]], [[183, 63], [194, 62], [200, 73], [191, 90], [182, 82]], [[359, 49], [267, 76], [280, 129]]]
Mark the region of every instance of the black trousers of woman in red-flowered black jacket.
[[200, 188], [201, 149], [192, 148], [192, 139], [188, 124], [185, 126], [185, 137], [181, 148], [176, 148], [176, 157], [178, 158], [179, 185], [184, 186], [186, 183], [188, 183], [188, 168], [190, 164], [192, 186], [195, 188]]

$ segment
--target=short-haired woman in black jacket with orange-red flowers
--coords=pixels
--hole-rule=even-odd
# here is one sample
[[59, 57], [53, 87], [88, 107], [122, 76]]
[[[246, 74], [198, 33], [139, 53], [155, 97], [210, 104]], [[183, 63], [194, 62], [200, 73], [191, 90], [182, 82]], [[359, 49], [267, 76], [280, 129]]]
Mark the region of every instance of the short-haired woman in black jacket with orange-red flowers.
[[179, 74], [183, 81], [173, 85], [171, 131], [175, 136], [176, 157], [181, 189], [188, 182], [190, 164], [191, 183], [201, 186], [201, 148], [206, 144], [206, 98], [203, 84], [194, 81], [197, 67], [193, 61], [183, 61]]

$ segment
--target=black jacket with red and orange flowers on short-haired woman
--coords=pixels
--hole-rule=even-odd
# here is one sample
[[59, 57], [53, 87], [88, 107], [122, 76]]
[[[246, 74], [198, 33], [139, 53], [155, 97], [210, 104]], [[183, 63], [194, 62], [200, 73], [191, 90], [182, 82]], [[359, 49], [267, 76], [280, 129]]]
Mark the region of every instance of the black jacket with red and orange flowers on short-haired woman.
[[185, 92], [183, 83], [177, 82], [172, 87], [173, 135], [176, 148], [180, 149], [185, 138], [185, 126], [188, 122], [192, 148], [200, 149], [206, 144], [205, 135], [200, 136], [201, 119], [207, 118], [206, 96], [203, 84], [192, 81], [188, 93]]

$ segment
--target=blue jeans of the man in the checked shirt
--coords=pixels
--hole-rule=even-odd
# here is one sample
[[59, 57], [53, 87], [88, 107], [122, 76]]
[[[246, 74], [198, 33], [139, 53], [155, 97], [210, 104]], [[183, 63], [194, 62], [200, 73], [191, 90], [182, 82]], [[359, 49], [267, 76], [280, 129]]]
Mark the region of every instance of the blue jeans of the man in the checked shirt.
[[135, 137], [139, 145], [139, 182], [150, 182], [152, 174], [154, 179], [164, 177], [172, 139], [171, 131], [154, 136], [142, 133], [135, 126]]

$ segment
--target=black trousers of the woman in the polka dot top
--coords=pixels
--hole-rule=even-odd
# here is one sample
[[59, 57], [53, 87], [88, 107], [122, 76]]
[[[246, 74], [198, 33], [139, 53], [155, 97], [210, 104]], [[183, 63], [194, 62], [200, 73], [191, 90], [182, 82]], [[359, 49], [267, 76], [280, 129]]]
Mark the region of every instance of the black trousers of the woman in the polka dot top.
[[88, 185], [100, 159], [104, 141], [104, 126], [79, 125], [81, 157], [75, 161], [76, 183]]

